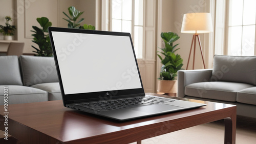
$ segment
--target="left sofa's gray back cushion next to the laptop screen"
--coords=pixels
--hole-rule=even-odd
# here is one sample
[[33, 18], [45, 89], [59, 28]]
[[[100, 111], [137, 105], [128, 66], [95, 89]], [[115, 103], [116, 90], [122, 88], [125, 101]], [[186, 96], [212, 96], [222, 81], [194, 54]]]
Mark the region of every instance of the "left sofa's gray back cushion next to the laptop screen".
[[22, 70], [23, 83], [26, 86], [58, 82], [53, 57], [21, 55], [19, 56], [19, 63]]

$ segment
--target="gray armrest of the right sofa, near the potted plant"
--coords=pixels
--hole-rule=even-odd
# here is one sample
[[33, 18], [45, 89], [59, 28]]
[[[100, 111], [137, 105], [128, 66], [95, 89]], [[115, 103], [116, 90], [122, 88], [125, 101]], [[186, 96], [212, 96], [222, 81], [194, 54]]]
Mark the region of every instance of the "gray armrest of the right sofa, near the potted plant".
[[185, 96], [185, 87], [196, 82], [206, 82], [210, 80], [212, 69], [201, 70], [180, 70], [178, 71], [178, 93], [177, 97]]

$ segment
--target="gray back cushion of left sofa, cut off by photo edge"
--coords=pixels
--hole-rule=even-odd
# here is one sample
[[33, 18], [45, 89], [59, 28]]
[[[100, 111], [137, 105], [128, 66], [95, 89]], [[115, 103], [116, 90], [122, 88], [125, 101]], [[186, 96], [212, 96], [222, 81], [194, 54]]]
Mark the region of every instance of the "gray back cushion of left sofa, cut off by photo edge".
[[0, 68], [0, 85], [23, 85], [17, 56], [0, 56]]

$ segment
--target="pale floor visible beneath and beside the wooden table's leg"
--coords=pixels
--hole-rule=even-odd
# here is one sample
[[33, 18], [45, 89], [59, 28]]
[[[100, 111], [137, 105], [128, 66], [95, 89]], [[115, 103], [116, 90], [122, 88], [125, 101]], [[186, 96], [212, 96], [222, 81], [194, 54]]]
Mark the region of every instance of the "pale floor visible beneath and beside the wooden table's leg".
[[[142, 144], [223, 144], [224, 121], [220, 120], [203, 124], [173, 133], [160, 135], [142, 140]], [[236, 143], [255, 144], [256, 141], [256, 119], [248, 117], [237, 117]], [[131, 144], [136, 144], [133, 142]]]

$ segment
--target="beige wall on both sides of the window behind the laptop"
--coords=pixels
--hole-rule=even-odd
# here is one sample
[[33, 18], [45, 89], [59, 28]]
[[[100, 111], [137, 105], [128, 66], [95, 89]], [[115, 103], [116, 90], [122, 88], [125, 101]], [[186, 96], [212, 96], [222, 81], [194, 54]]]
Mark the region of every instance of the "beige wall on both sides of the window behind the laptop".
[[[25, 1], [25, 2], [24, 2]], [[209, 0], [205, 0], [209, 1]], [[193, 35], [180, 33], [181, 22], [183, 14], [190, 12], [205, 12], [206, 3], [204, 0], [158, 0], [161, 6], [158, 6], [162, 15], [160, 16], [160, 22], [158, 22], [158, 47], [162, 47], [162, 42], [160, 37], [161, 32], [175, 32], [181, 38], [177, 41], [180, 43], [180, 50], [184, 60], [183, 68], [186, 68], [188, 54], [191, 44], [191, 39]], [[31, 45], [35, 45], [31, 42], [32, 40], [32, 25], [39, 26], [36, 21], [37, 17], [46, 16], [53, 23], [53, 26], [67, 27], [67, 22], [62, 18], [65, 17], [62, 11], [68, 13], [67, 8], [69, 6], [75, 6], [78, 10], [84, 11], [81, 17], [85, 18], [83, 23], [95, 25], [96, 21], [96, 1], [94, 0], [0, 0], [0, 24], [4, 24], [4, 17], [6, 15], [11, 15], [15, 18], [15, 13], [17, 13], [17, 19], [14, 19], [13, 24], [17, 25], [17, 35], [14, 36], [15, 40], [25, 42], [25, 53], [31, 53], [34, 49]], [[25, 8], [24, 8], [25, 6]], [[159, 19], [159, 15], [158, 15]], [[160, 28], [159, 28], [160, 27]], [[201, 42], [204, 44], [204, 35], [201, 34]], [[3, 35], [0, 34], [0, 40], [3, 40]], [[206, 46], [207, 47], [207, 46]], [[6, 44], [0, 44], [0, 50], [7, 49]], [[203, 45], [205, 49], [205, 45]], [[191, 57], [192, 58], [192, 57]], [[208, 57], [205, 57], [207, 59]], [[157, 58], [158, 59], [158, 58]], [[192, 61], [190, 60], [189, 69], [191, 69]], [[159, 67], [159, 66], [158, 66]], [[196, 52], [196, 69], [203, 68], [201, 54], [199, 52], [199, 47], [197, 43]]]

